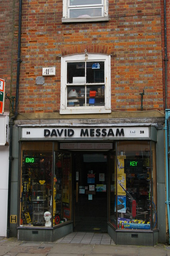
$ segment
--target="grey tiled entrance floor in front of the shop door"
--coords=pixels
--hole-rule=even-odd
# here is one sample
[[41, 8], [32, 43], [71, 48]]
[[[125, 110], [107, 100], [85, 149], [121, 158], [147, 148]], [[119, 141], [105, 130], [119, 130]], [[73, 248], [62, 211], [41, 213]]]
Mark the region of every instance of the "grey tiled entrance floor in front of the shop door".
[[115, 244], [107, 233], [73, 232], [57, 240], [58, 243]]

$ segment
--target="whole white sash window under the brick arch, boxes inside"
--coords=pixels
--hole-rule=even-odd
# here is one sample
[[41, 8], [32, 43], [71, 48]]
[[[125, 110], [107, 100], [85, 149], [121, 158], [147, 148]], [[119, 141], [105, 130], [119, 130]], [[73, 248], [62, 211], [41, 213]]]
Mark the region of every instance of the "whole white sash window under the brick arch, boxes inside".
[[60, 114], [111, 112], [110, 80], [108, 55], [62, 57]]

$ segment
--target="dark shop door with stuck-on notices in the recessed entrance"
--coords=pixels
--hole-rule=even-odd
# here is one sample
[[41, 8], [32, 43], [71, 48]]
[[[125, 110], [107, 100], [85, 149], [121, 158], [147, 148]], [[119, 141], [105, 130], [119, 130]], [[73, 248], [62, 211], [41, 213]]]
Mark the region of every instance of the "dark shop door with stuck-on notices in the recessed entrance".
[[75, 153], [74, 231], [107, 232], [107, 155]]

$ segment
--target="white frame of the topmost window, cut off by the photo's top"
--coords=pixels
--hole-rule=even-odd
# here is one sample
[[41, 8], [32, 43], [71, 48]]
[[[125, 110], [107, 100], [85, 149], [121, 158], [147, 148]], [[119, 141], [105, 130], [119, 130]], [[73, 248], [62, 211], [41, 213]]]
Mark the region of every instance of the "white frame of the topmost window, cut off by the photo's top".
[[[93, 2], [93, 1], [92, 1]], [[102, 7], [102, 16], [101, 17], [79, 17], [79, 18], [69, 18], [69, 9], [74, 7], [69, 6], [69, 0], [63, 0], [63, 18], [62, 22], [88, 22], [88, 21], [107, 21], [108, 17], [108, 2], [109, 0], [102, 0], [102, 4], [99, 5], [83, 5], [76, 6], [75, 8], [93, 8], [93, 7]]]

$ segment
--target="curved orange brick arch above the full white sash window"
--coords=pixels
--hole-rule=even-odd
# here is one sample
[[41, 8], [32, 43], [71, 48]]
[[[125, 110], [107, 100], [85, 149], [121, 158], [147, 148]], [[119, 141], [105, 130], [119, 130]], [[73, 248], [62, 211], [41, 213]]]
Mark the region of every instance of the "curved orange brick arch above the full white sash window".
[[87, 53], [96, 54], [114, 54], [114, 46], [108, 46], [107, 44], [75, 44], [70, 46], [65, 46], [61, 48], [61, 55], [68, 56], [72, 54], [82, 54], [87, 50]]

